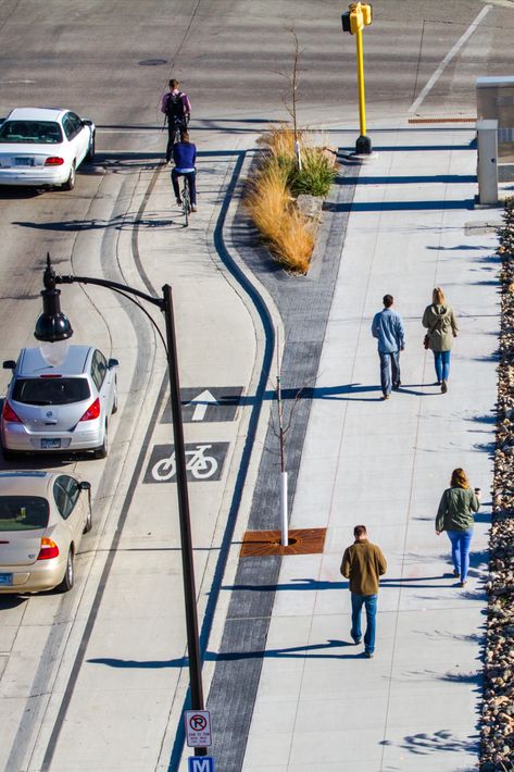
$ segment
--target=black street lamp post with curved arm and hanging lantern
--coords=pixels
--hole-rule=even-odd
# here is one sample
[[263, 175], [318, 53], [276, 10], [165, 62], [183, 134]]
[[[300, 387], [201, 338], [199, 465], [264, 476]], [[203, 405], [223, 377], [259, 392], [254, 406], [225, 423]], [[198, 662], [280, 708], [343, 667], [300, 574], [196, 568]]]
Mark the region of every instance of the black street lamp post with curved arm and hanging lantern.
[[[180, 385], [178, 379], [178, 361], [177, 346], [175, 336], [175, 323], [173, 314], [173, 298], [172, 287], [165, 284], [162, 288], [163, 297], [154, 298], [151, 295], [141, 292], [134, 287], [109, 279], [95, 278], [91, 276], [60, 276], [55, 274], [50, 256], [47, 254], [47, 267], [43, 274], [45, 289], [41, 290], [42, 314], [36, 322], [34, 332], [35, 337], [42, 344], [62, 344], [67, 343], [73, 335], [72, 325], [61, 311], [60, 295], [61, 290], [57, 288], [58, 284], [95, 284], [99, 287], [106, 287], [120, 295], [123, 295], [128, 300], [138, 306], [154, 324], [152, 317], [147, 313], [145, 308], [139, 302], [134, 300], [134, 297], [146, 300], [152, 306], [156, 306], [164, 314], [166, 324], [166, 356], [170, 371], [171, 386], [171, 406], [173, 419], [173, 437], [175, 444], [175, 461], [177, 475], [177, 498], [178, 498], [178, 518], [180, 523], [180, 545], [181, 545], [181, 561], [184, 576], [184, 601], [186, 607], [186, 628], [187, 628], [187, 648], [189, 659], [189, 685], [191, 690], [191, 708], [192, 710], [203, 710], [203, 688], [202, 688], [202, 663], [200, 657], [200, 645], [198, 634], [198, 614], [197, 614], [197, 594], [195, 587], [195, 564], [192, 557], [192, 539], [191, 539], [191, 520], [189, 512], [189, 497], [187, 490], [187, 470], [186, 470], [186, 447], [184, 443], [184, 426], [180, 406]], [[156, 325], [155, 325], [156, 326]], [[161, 339], [162, 335], [156, 327]], [[42, 351], [45, 356], [45, 351]], [[65, 356], [65, 351], [64, 351]], [[62, 357], [64, 359], [64, 357]], [[50, 359], [49, 359], [50, 361]], [[196, 756], [205, 756], [206, 748], [195, 748]]]

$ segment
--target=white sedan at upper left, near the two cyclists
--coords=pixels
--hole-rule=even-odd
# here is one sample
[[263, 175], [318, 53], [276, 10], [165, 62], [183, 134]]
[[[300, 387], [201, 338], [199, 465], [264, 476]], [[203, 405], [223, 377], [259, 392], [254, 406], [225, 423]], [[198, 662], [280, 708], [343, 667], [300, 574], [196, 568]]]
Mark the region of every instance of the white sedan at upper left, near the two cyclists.
[[70, 110], [15, 108], [0, 125], [0, 185], [75, 187], [95, 154], [95, 124]]

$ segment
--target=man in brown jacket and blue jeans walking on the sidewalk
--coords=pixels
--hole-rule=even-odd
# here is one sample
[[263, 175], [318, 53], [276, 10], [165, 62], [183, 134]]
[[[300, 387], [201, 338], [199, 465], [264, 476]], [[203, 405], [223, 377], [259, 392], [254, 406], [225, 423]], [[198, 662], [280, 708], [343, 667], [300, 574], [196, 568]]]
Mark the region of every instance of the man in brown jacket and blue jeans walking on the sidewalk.
[[375, 653], [376, 614], [379, 577], [386, 573], [387, 562], [376, 544], [367, 540], [365, 525], [353, 528], [354, 543], [344, 550], [341, 574], [350, 580], [352, 598], [352, 628], [350, 635], [354, 644], [362, 640], [361, 612], [366, 609], [366, 632], [364, 653], [371, 659]]

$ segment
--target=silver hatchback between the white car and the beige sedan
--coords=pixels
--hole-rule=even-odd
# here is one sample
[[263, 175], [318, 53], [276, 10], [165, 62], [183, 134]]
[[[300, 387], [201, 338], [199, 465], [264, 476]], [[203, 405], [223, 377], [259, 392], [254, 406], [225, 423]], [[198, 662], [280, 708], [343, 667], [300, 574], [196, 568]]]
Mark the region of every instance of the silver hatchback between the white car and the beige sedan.
[[71, 346], [55, 368], [39, 348], [4, 362], [13, 377], [0, 420], [3, 457], [91, 450], [105, 458], [109, 421], [117, 410], [117, 365], [88, 346]]

